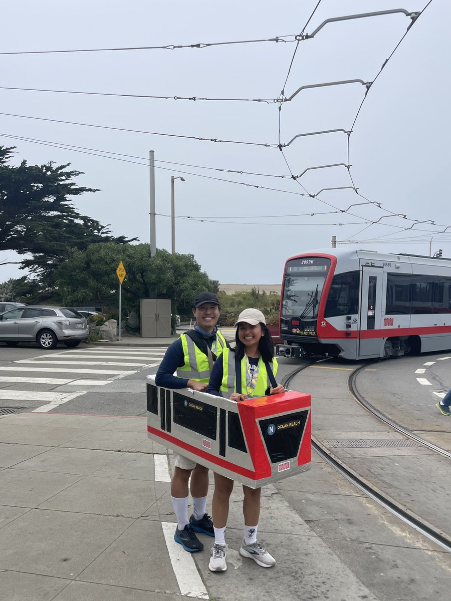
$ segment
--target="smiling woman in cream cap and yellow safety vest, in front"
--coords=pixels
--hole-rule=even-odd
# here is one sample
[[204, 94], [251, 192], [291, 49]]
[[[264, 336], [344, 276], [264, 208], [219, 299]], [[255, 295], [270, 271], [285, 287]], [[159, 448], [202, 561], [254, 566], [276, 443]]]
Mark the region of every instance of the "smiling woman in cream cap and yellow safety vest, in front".
[[[263, 313], [257, 309], [245, 309], [239, 314], [235, 325], [238, 326], [235, 350], [224, 349], [222, 355], [218, 357], [213, 365], [207, 392], [234, 401], [284, 392], [283, 386], [277, 384], [274, 379], [277, 373], [277, 361], [274, 358], [274, 344], [266, 328]], [[212, 572], [227, 570], [225, 525], [229, 516], [229, 499], [232, 490], [233, 480], [215, 474], [212, 505], [215, 543], [208, 566]], [[257, 542], [261, 490], [243, 485], [245, 536], [239, 552], [243, 557], [253, 559], [259, 566], [272, 567], [275, 564], [274, 557], [271, 557]]]

